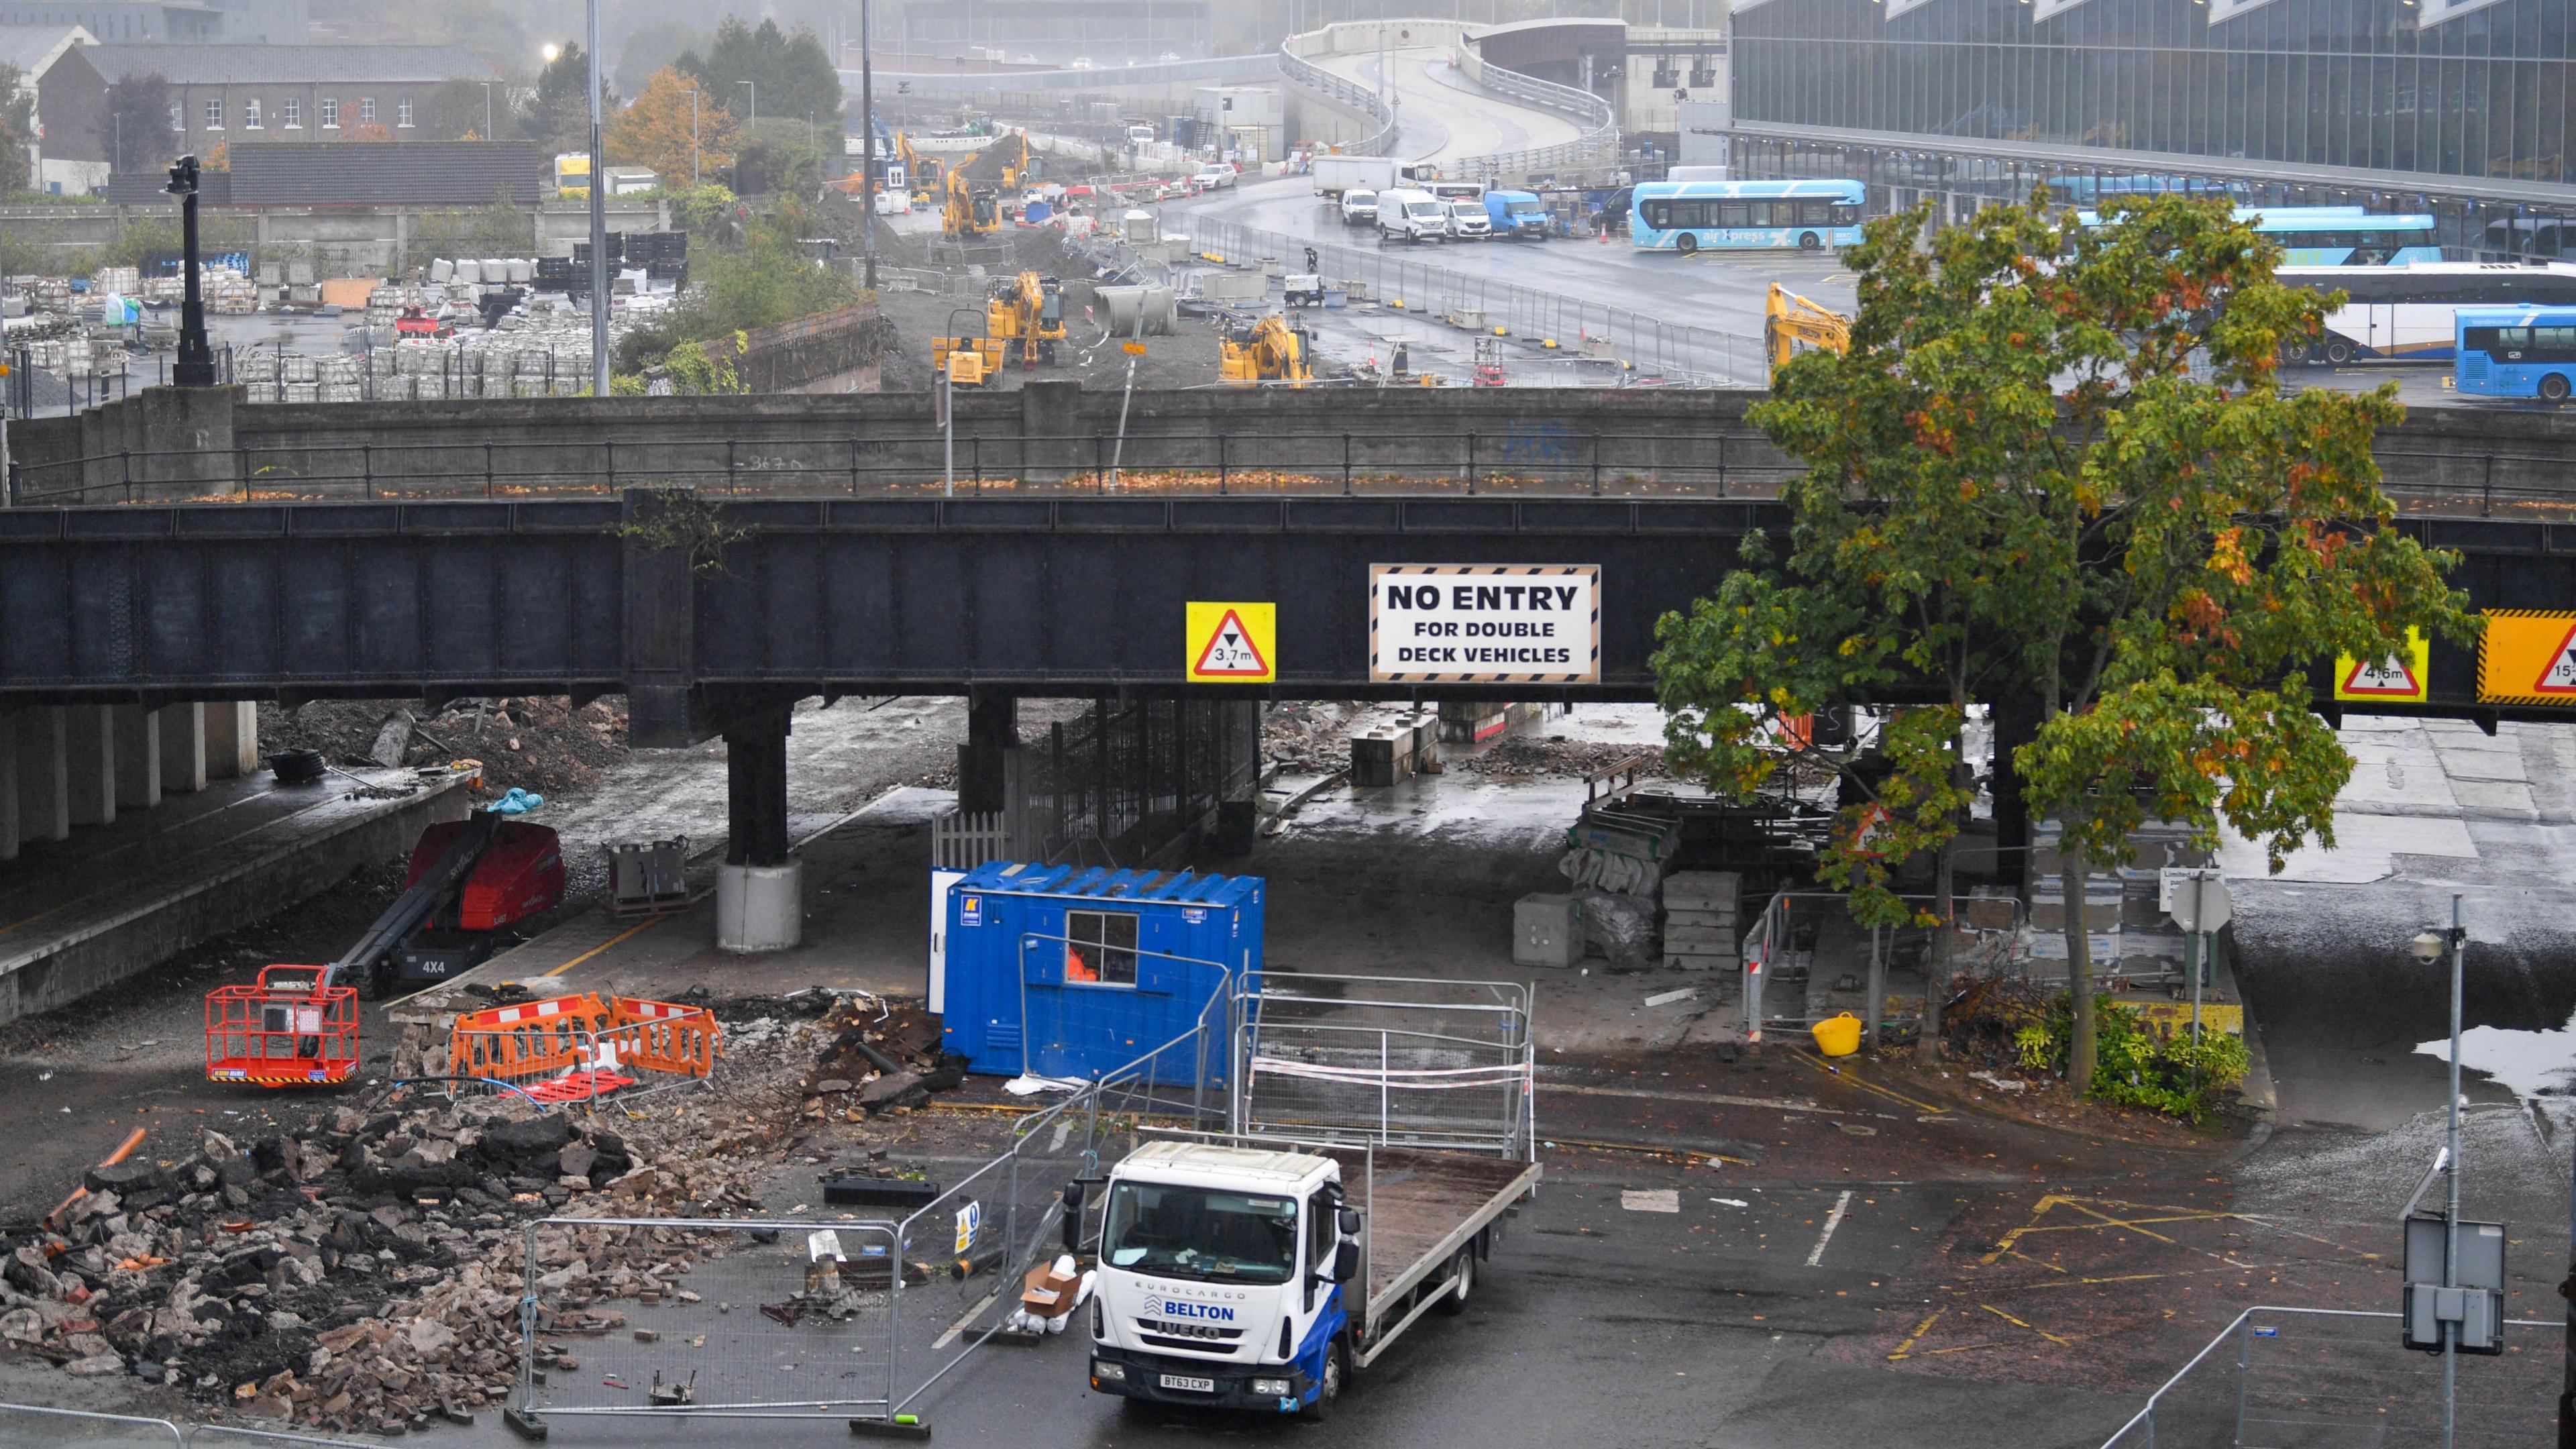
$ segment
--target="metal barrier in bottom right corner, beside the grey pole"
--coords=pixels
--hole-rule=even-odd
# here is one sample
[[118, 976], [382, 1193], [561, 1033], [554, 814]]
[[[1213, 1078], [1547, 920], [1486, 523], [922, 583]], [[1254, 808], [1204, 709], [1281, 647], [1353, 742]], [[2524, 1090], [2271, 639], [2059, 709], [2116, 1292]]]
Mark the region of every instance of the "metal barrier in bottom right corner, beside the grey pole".
[[[2458, 1359], [2458, 1449], [2550, 1444], [2566, 1323], [2524, 1351]], [[2396, 1312], [2249, 1307], [2146, 1397], [2102, 1449], [2442, 1444], [2442, 1356], [2398, 1346]]]

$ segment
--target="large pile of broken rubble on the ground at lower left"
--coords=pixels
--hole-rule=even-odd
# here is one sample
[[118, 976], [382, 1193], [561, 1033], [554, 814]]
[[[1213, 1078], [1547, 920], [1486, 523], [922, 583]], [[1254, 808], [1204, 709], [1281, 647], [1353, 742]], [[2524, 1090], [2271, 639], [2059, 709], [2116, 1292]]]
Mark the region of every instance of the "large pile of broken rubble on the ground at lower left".
[[[46, 1225], [0, 1232], [0, 1348], [178, 1385], [252, 1421], [466, 1423], [518, 1374], [528, 1220], [757, 1212], [750, 1186], [791, 1140], [801, 1062], [855, 1021], [822, 1029], [832, 1036], [775, 1018], [734, 1031], [744, 1070], [721, 1098], [657, 1098], [621, 1132], [435, 1098], [325, 1109], [247, 1147], [206, 1132], [185, 1158], [93, 1168]], [[544, 1227], [541, 1289], [665, 1292], [690, 1253], [649, 1238]]]

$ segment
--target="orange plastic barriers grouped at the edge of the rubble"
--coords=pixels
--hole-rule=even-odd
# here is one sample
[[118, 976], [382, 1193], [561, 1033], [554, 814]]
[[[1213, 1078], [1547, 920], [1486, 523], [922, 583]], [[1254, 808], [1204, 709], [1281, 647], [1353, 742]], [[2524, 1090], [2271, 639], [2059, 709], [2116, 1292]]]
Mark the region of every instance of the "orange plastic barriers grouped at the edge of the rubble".
[[706, 1080], [721, 1052], [724, 1029], [701, 1006], [585, 993], [459, 1016], [448, 1073], [577, 1104]]

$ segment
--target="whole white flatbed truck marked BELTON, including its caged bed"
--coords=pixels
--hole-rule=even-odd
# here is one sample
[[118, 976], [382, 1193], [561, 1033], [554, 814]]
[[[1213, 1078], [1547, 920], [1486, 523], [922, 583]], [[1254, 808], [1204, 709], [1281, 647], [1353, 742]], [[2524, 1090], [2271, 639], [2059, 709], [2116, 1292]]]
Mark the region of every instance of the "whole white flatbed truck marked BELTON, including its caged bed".
[[1108, 1171], [1090, 1382], [1324, 1418], [1425, 1312], [1466, 1307], [1538, 1191], [1528, 993], [1270, 972], [1244, 1006], [1231, 1129]]

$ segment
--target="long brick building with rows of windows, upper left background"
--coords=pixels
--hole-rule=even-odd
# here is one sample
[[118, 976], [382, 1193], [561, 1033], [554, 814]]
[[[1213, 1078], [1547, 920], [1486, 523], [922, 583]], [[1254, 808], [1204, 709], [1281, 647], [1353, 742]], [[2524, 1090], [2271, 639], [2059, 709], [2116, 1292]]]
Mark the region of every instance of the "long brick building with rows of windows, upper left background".
[[[451, 142], [482, 134], [502, 77], [461, 46], [175, 46], [67, 52], [39, 83], [44, 155], [108, 160], [108, 85], [160, 75], [167, 155], [268, 142]], [[131, 139], [129, 139], [131, 144]]]

